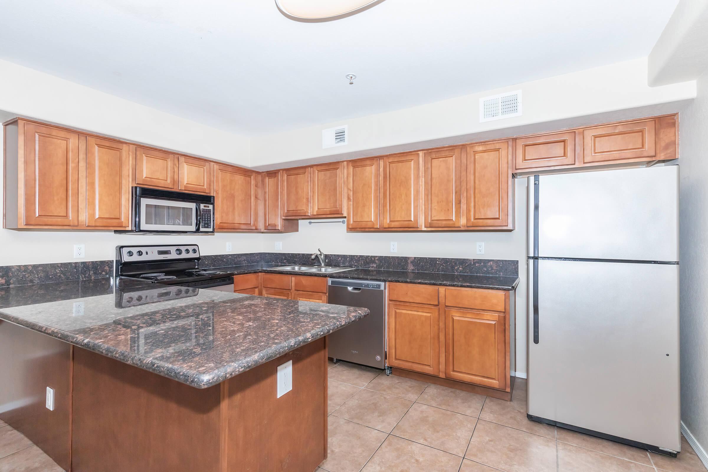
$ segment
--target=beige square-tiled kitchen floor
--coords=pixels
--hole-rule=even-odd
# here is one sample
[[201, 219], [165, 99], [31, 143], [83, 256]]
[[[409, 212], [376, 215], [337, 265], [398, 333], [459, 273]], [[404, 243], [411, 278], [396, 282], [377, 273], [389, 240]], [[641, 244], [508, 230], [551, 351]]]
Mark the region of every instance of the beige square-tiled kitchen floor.
[[[706, 472], [683, 439], [678, 459], [526, 419], [511, 402], [355, 364], [329, 364], [329, 453], [319, 472]], [[0, 421], [0, 472], [61, 472]], [[297, 472], [297, 471], [294, 471]]]

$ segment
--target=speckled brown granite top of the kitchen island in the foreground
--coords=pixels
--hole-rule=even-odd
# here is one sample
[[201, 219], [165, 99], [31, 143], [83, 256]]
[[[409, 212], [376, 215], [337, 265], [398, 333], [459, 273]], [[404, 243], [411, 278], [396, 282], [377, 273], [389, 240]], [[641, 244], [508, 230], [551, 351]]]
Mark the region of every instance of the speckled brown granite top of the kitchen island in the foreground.
[[[171, 290], [180, 290], [181, 298], [164, 297]], [[127, 297], [148, 294], [154, 302], [120, 308]], [[196, 388], [219, 384], [368, 313], [110, 277], [0, 289], [0, 320]]]

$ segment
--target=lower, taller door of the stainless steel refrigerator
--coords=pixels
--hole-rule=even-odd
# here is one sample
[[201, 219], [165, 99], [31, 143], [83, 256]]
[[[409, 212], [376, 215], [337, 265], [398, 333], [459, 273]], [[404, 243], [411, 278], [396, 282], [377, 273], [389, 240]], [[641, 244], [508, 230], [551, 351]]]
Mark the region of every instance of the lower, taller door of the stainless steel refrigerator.
[[538, 263], [528, 413], [679, 451], [678, 265]]

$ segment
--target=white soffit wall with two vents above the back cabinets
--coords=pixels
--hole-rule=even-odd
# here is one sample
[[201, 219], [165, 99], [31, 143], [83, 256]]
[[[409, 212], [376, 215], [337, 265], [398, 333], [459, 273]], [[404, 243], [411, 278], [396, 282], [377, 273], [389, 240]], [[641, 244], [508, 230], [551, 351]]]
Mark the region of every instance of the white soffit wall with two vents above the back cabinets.
[[[395, 146], [404, 146], [408, 150], [426, 147], [420, 143], [429, 146], [456, 144], [472, 140], [470, 135], [493, 129], [567, 120], [613, 110], [641, 108], [695, 96], [695, 81], [649, 87], [646, 82], [646, 70], [645, 57], [473, 93], [405, 110], [253, 137], [251, 166], [268, 166], [283, 161], [312, 159], [333, 154], [341, 154], [347, 158], [371, 156], [382, 154], [377, 149]], [[479, 98], [519, 88], [523, 92], [522, 116], [479, 122]], [[605, 121], [612, 121], [612, 119]], [[583, 124], [585, 123], [581, 123]], [[349, 125], [349, 144], [322, 149], [322, 129], [340, 125]], [[559, 129], [559, 127], [561, 126], [556, 125], [552, 129]], [[501, 133], [499, 136], [508, 136], [508, 134]], [[491, 135], [486, 139], [499, 136]], [[449, 139], [446, 141], [446, 138]], [[417, 147], [416, 143], [418, 143]], [[401, 150], [404, 149], [393, 149], [388, 152]], [[336, 160], [336, 156], [327, 160]]]

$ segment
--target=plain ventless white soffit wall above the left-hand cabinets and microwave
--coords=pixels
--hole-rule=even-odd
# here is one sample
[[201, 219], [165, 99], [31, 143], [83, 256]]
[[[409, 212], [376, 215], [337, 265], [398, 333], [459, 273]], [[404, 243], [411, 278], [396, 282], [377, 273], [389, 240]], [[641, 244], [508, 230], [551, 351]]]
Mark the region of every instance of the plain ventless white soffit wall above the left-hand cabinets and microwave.
[[2, 60], [0, 110], [186, 154], [249, 165], [248, 137], [200, 125]]

